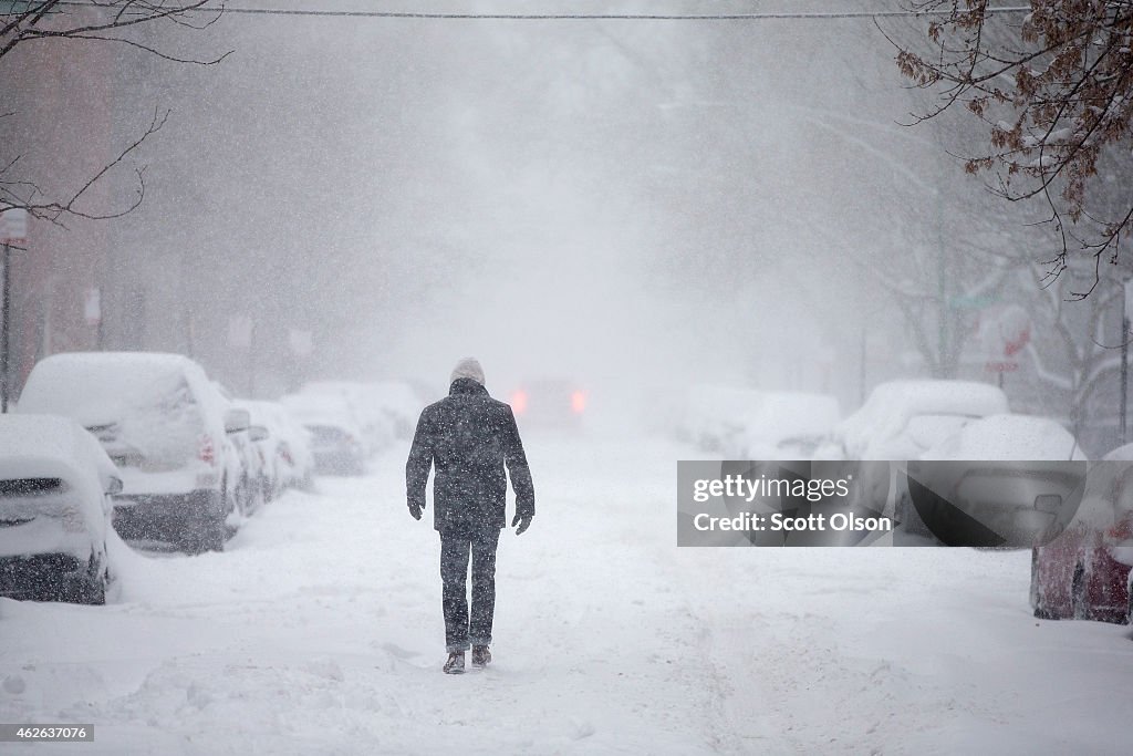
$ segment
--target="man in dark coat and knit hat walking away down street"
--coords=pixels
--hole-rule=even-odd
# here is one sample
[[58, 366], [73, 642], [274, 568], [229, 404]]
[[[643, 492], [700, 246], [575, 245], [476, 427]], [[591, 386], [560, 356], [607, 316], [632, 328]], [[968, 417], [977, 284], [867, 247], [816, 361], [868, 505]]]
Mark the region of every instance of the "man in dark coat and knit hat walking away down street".
[[[417, 421], [414, 445], [406, 462], [409, 513], [421, 518], [431, 467], [433, 527], [441, 534], [441, 580], [444, 585], [444, 639], [449, 659], [444, 671], [465, 671], [465, 652], [472, 664], [492, 661], [492, 618], [495, 612], [495, 552], [506, 525], [508, 478], [516, 490], [516, 535], [535, 517], [535, 487], [527, 467], [511, 407], [484, 388], [484, 371], [471, 357], [457, 363], [449, 396], [429, 405]], [[465, 583], [472, 562], [471, 614]]]

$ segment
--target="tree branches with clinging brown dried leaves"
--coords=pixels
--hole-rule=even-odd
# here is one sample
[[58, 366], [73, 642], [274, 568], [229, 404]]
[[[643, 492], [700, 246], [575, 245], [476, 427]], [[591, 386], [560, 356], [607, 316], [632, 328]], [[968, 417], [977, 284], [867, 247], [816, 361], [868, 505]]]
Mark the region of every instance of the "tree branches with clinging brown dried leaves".
[[913, 86], [939, 101], [913, 125], [955, 108], [988, 128], [988, 150], [965, 158], [970, 173], [990, 173], [989, 189], [1010, 202], [1041, 199], [1058, 240], [1057, 277], [1068, 256], [1122, 260], [1133, 231], [1128, 181], [1107, 186], [1099, 171], [1133, 169], [1133, 2], [1031, 0], [1016, 24], [996, 20], [988, 0], [915, 0], [934, 14], [913, 49], [883, 29]]

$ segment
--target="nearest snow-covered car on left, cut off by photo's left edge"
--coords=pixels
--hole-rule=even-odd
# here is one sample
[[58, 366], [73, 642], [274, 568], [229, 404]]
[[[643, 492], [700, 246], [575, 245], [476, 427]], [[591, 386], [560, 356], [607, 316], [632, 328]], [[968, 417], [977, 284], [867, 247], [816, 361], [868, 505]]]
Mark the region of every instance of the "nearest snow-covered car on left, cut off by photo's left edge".
[[75, 421], [0, 415], [0, 596], [102, 604], [122, 483]]

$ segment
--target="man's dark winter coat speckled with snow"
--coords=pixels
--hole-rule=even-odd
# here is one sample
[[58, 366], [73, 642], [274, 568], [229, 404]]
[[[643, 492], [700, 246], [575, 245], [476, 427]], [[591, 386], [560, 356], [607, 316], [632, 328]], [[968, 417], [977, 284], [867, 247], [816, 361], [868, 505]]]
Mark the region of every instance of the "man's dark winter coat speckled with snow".
[[449, 396], [426, 407], [417, 421], [406, 462], [409, 503], [425, 507], [425, 485], [435, 466], [433, 527], [441, 533], [502, 529], [504, 465], [516, 490], [516, 513], [534, 517], [535, 487], [511, 407], [476, 381], [457, 379]]

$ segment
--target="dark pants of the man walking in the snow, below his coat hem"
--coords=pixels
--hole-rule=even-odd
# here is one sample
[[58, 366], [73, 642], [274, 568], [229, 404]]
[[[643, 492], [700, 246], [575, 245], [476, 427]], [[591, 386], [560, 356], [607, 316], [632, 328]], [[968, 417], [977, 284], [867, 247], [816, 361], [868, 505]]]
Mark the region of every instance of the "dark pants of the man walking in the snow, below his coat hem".
[[[475, 534], [441, 534], [441, 580], [444, 583], [444, 643], [450, 653], [468, 651], [469, 645], [492, 643], [492, 617], [495, 613], [495, 550], [500, 530]], [[465, 583], [468, 557], [472, 558], [472, 611], [468, 611]]]

